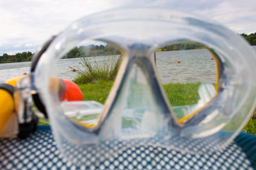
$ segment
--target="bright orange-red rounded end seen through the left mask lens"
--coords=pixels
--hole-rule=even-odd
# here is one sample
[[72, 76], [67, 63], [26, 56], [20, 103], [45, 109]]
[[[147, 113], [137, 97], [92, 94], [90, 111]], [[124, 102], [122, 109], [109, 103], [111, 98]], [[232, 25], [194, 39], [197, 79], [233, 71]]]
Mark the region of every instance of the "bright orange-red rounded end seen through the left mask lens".
[[59, 95], [61, 101], [83, 101], [83, 93], [76, 83], [63, 78], [60, 81]]

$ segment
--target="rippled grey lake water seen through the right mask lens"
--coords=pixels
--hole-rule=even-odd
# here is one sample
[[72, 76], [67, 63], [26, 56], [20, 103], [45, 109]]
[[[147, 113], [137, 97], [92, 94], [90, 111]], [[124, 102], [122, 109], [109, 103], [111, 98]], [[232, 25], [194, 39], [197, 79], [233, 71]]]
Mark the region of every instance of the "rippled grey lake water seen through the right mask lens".
[[[157, 52], [157, 69], [163, 83], [216, 82], [216, 65], [205, 49]], [[177, 63], [177, 61], [180, 63]]]

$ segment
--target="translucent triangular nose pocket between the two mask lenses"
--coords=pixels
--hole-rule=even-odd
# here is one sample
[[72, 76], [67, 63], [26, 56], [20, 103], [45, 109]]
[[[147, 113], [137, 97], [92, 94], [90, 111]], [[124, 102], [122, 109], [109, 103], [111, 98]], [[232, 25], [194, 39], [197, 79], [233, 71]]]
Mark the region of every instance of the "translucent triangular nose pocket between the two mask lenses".
[[100, 127], [103, 136], [109, 138], [112, 132], [119, 138], [149, 138], [166, 131], [177, 132], [179, 123], [162, 95], [148, 57], [129, 60], [119, 88]]

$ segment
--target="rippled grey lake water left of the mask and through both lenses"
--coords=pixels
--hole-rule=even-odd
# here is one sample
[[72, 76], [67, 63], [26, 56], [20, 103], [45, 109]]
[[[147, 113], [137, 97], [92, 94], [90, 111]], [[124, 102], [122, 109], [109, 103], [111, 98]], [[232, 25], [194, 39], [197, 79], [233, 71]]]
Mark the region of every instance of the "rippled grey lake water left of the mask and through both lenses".
[[[205, 49], [200, 50], [180, 50], [170, 52], [156, 52], [157, 69], [163, 83], [170, 82], [210, 82], [216, 81], [216, 66], [211, 60], [211, 53]], [[93, 60], [100, 60], [95, 57]], [[177, 63], [180, 60], [180, 63]], [[72, 80], [77, 73], [72, 72], [72, 68], [79, 67], [81, 59], [61, 59], [56, 66], [58, 76]], [[29, 73], [31, 62], [14, 62], [0, 64], [0, 82]]]

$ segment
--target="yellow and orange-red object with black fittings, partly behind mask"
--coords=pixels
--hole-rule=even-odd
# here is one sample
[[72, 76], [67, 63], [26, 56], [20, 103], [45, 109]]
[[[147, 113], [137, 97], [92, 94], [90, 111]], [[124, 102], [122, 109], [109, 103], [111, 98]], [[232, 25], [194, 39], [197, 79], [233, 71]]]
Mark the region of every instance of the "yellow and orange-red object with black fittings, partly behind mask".
[[[26, 101], [23, 103], [22, 100], [20, 101], [20, 96], [16, 88], [17, 82], [24, 77], [25, 76], [18, 76], [4, 81], [4, 83], [0, 83], [0, 137], [2, 138], [16, 136], [26, 138], [31, 132], [36, 131], [38, 117], [31, 108], [32, 103], [26, 103]], [[60, 84], [58, 91], [60, 101], [83, 100], [83, 93], [76, 83], [61, 78], [56, 80]], [[31, 96], [30, 99], [32, 101]], [[36, 102], [38, 104], [38, 102], [40, 103], [41, 101], [39, 99]], [[44, 107], [44, 104], [40, 103], [40, 106]]]

